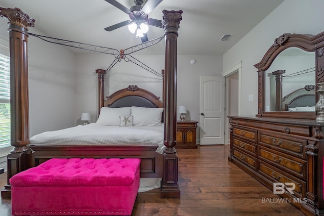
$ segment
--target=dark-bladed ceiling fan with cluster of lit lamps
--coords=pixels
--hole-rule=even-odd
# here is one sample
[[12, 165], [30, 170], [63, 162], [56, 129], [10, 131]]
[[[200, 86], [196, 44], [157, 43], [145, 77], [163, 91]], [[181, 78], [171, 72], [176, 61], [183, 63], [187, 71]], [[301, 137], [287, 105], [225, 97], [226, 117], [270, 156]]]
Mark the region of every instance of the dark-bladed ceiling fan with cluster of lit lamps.
[[[163, 0], [147, 0], [143, 4], [143, 0], [134, 0], [135, 6], [131, 7], [130, 9], [126, 8], [125, 6], [121, 5], [115, 0], [105, 0], [107, 3], [115, 6], [116, 8], [120, 9], [127, 13], [131, 20], [126, 20], [124, 22], [120, 22], [114, 24], [112, 26], [106, 27], [106, 31], [112, 31], [117, 28], [123, 27], [128, 25], [129, 30], [132, 33], [136, 33], [136, 37], [141, 37], [142, 42], [148, 41], [147, 38], [147, 30], [148, 26], [156, 26], [162, 28], [162, 21], [148, 18], [148, 14], [153, 11], [153, 9], [160, 4]], [[147, 25], [146, 25], [147, 23]]]

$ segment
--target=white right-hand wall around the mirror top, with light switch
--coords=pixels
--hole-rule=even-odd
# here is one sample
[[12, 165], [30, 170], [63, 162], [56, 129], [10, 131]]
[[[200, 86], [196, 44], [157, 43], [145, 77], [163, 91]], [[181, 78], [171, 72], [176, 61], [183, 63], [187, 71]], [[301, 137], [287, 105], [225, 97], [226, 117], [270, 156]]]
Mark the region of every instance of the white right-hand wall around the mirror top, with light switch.
[[[253, 66], [261, 61], [274, 39], [283, 33], [318, 34], [324, 31], [322, 0], [286, 0], [223, 55], [223, 71], [242, 61], [241, 114], [258, 113], [258, 75]], [[254, 83], [254, 84], [251, 84]], [[248, 101], [250, 94], [254, 101]]]

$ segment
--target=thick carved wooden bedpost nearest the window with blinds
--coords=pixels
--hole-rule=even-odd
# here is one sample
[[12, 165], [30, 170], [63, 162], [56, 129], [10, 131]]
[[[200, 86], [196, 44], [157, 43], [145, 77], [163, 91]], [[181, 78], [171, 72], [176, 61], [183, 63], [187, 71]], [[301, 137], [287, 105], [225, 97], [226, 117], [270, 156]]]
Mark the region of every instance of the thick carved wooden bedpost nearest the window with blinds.
[[10, 198], [9, 179], [32, 165], [32, 150], [27, 146], [29, 144], [27, 27], [34, 27], [35, 20], [18, 8], [0, 8], [0, 16], [9, 20], [11, 145], [14, 147], [7, 156], [8, 185], [1, 192], [1, 196]]

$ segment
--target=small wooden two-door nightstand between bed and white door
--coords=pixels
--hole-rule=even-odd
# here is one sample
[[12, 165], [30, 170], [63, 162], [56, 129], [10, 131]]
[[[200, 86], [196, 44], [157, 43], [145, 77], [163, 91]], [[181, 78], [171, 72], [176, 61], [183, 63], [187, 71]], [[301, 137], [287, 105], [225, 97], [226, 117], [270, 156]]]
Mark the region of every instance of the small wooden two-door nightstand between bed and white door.
[[198, 121], [177, 121], [176, 148], [197, 148], [196, 128]]

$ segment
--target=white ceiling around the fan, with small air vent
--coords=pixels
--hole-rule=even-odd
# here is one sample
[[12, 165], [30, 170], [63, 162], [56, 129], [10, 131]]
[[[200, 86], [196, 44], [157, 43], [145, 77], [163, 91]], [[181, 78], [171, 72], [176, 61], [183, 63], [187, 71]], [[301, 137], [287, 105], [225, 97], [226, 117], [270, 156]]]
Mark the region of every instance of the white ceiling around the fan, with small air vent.
[[[126, 8], [134, 0], [119, 0]], [[163, 0], [149, 18], [162, 20], [163, 10], [182, 10], [178, 30], [179, 55], [223, 55], [284, 0]], [[19, 8], [35, 19], [35, 27], [44, 35], [83, 42], [117, 50], [141, 44], [127, 26], [105, 31], [110, 25], [130, 20], [129, 16], [104, 0], [0, 0], [4, 8]], [[29, 27], [29, 32], [33, 31]], [[150, 26], [147, 36], [163, 36], [164, 30]], [[219, 41], [223, 34], [233, 34]], [[70, 48], [74, 53], [80, 49]], [[89, 51], [88, 51], [89, 52]], [[137, 54], [164, 54], [165, 43], [138, 51]]]

